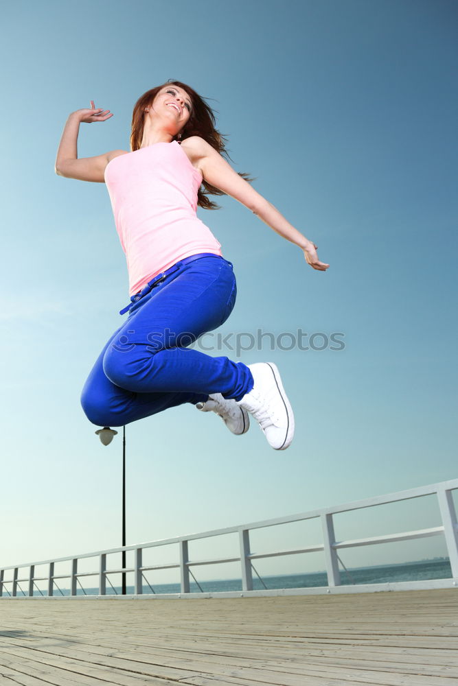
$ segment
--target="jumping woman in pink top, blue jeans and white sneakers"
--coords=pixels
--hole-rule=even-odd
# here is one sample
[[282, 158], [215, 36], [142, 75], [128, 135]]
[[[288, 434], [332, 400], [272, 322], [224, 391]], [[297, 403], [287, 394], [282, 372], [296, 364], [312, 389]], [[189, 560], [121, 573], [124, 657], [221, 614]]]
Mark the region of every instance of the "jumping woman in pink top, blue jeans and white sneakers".
[[83, 410], [102, 427], [129, 424], [168, 407], [192, 403], [215, 412], [233, 434], [249, 415], [276, 450], [290, 445], [294, 415], [277, 366], [245, 365], [190, 348], [220, 327], [236, 301], [233, 265], [222, 257], [197, 205], [218, 209], [205, 191], [235, 198], [299, 246], [307, 263], [325, 271], [306, 239], [222, 157], [216, 119], [190, 86], [168, 81], [135, 104], [130, 152], [78, 159], [80, 123], [106, 121], [109, 110], [71, 113], [56, 158], [56, 174], [106, 183], [126, 253], [128, 316], [100, 353], [81, 395]]

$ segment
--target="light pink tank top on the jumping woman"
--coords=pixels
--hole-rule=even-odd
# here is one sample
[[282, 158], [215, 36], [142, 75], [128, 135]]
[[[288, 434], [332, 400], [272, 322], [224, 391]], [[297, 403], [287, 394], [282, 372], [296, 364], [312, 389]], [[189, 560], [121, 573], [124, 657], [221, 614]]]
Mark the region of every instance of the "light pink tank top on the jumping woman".
[[130, 295], [180, 259], [199, 252], [222, 255], [211, 230], [196, 216], [202, 175], [178, 141], [113, 158], [105, 182], [126, 253]]

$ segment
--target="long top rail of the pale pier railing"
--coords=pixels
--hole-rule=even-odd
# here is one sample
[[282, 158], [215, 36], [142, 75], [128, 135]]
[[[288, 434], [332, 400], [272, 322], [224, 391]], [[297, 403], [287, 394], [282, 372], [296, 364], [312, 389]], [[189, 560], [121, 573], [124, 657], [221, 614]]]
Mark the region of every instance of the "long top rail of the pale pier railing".
[[[213, 536], [224, 536], [226, 534], [236, 534], [244, 530], [254, 530], [262, 529], [271, 526], [276, 526], [280, 524], [293, 523], [295, 521], [305, 521], [308, 519], [316, 519], [321, 517], [323, 514], [341, 514], [343, 512], [351, 512], [352, 510], [362, 510], [364, 508], [375, 507], [378, 505], [387, 505], [390, 503], [400, 502], [404, 500], [410, 500], [413, 498], [419, 498], [426, 495], [434, 495], [437, 491], [443, 490], [457, 490], [458, 489], [458, 479], [453, 479], [446, 482], [439, 482], [437, 484], [430, 484], [428, 486], [419, 486], [417, 488], [411, 488], [409, 490], [403, 490], [399, 493], [389, 493], [388, 495], [380, 495], [365, 500], [354, 501], [351, 503], [343, 504], [340, 506], [330, 507], [330, 508], [320, 508], [318, 510], [312, 510], [310, 512], [301, 512], [300, 514], [293, 514], [286, 517], [277, 517], [276, 519], [268, 519], [264, 521], [255, 521], [243, 525], [231, 526], [223, 529], [210, 530], [202, 532], [200, 534], [188, 534], [187, 536], [176, 536], [173, 539], [162, 539], [159, 541], [149, 541], [147, 543], [137, 543], [137, 545], [126, 545], [119, 548], [111, 548], [108, 550], [100, 550], [97, 552], [84, 553], [81, 555], [71, 555], [65, 558], [55, 558], [54, 560], [42, 560], [36, 563], [24, 563], [22, 565], [11, 565], [10, 567], [1, 567], [3, 571], [8, 571], [9, 569], [21, 569], [22, 567], [30, 567], [32, 565], [47, 565], [49, 563], [60, 563], [68, 562], [69, 560], [82, 560], [85, 558], [99, 557], [100, 555], [110, 555], [123, 551], [145, 549], [150, 547], [159, 547], [162, 545], [172, 545], [174, 543], [178, 544], [182, 541], [194, 541], [196, 539], [207, 539]], [[97, 572], [98, 573], [98, 572]], [[78, 575], [79, 576], [79, 575]]]

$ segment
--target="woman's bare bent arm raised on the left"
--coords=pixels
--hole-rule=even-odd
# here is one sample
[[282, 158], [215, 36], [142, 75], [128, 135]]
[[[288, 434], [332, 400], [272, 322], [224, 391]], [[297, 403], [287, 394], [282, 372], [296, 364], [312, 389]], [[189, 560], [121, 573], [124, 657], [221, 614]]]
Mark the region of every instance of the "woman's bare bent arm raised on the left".
[[[91, 101], [91, 105], [93, 102]], [[58, 176], [66, 178], [76, 178], [81, 181], [104, 182], [105, 167], [110, 161], [113, 153], [118, 151], [106, 152], [95, 157], [83, 157], [78, 159], [78, 133], [80, 123], [92, 121], [105, 121], [113, 117], [109, 110], [90, 109], [76, 110], [72, 112], [65, 123], [65, 128], [60, 139], [56, 156], [55, 171]]]

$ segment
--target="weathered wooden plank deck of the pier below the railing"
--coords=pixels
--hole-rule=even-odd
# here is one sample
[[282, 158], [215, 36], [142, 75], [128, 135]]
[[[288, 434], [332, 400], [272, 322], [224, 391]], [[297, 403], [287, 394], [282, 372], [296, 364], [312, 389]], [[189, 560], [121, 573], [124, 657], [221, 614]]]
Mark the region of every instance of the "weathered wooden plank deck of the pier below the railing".
[[0, 601], [1, 686], [458, 686], [458, 591]]

